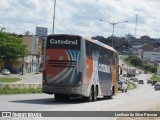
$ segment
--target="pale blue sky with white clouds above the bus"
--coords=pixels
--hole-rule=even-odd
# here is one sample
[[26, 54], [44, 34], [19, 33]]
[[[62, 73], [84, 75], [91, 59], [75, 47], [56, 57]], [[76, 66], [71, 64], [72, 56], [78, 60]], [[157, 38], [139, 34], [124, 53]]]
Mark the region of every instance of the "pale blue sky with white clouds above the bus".
[[[0, 0], [0, 29], [35, 35], [36, 27], [45, 27], [52, 34], [54, 3]], [[119, 37], [130, 33], [136, 38], [160, 38], [159, 11], [159, 0], [56, 0], [54, 34], [109, 37], [114, 28], [114, 35]]]

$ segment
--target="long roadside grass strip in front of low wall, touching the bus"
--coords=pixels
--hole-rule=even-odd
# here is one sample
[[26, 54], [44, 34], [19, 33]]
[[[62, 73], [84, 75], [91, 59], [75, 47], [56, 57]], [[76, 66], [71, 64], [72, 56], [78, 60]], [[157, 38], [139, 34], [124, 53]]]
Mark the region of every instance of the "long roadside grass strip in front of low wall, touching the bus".
[[28, 93], [42, 93], [42, 88], [10, 88], [5, 86], [0, 88], [0, 95], [2, 94], [28, 94]]

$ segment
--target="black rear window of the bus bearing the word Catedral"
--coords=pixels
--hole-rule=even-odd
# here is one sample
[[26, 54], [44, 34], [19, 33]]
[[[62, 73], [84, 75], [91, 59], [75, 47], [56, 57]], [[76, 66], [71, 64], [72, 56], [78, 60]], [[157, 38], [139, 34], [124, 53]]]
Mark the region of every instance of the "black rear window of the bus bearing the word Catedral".
[[80, 50], [80, 36], [54, 35], [48, 36], [46, 49]]

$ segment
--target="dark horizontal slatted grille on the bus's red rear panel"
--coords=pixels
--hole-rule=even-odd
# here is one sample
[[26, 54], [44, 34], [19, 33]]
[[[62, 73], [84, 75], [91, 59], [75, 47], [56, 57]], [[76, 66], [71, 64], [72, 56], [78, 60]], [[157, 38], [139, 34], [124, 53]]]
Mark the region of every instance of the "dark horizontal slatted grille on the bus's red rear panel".
[[77, 65], [77, 61], [48, 60], [48, 65], [51, 67], [75, 67]]

